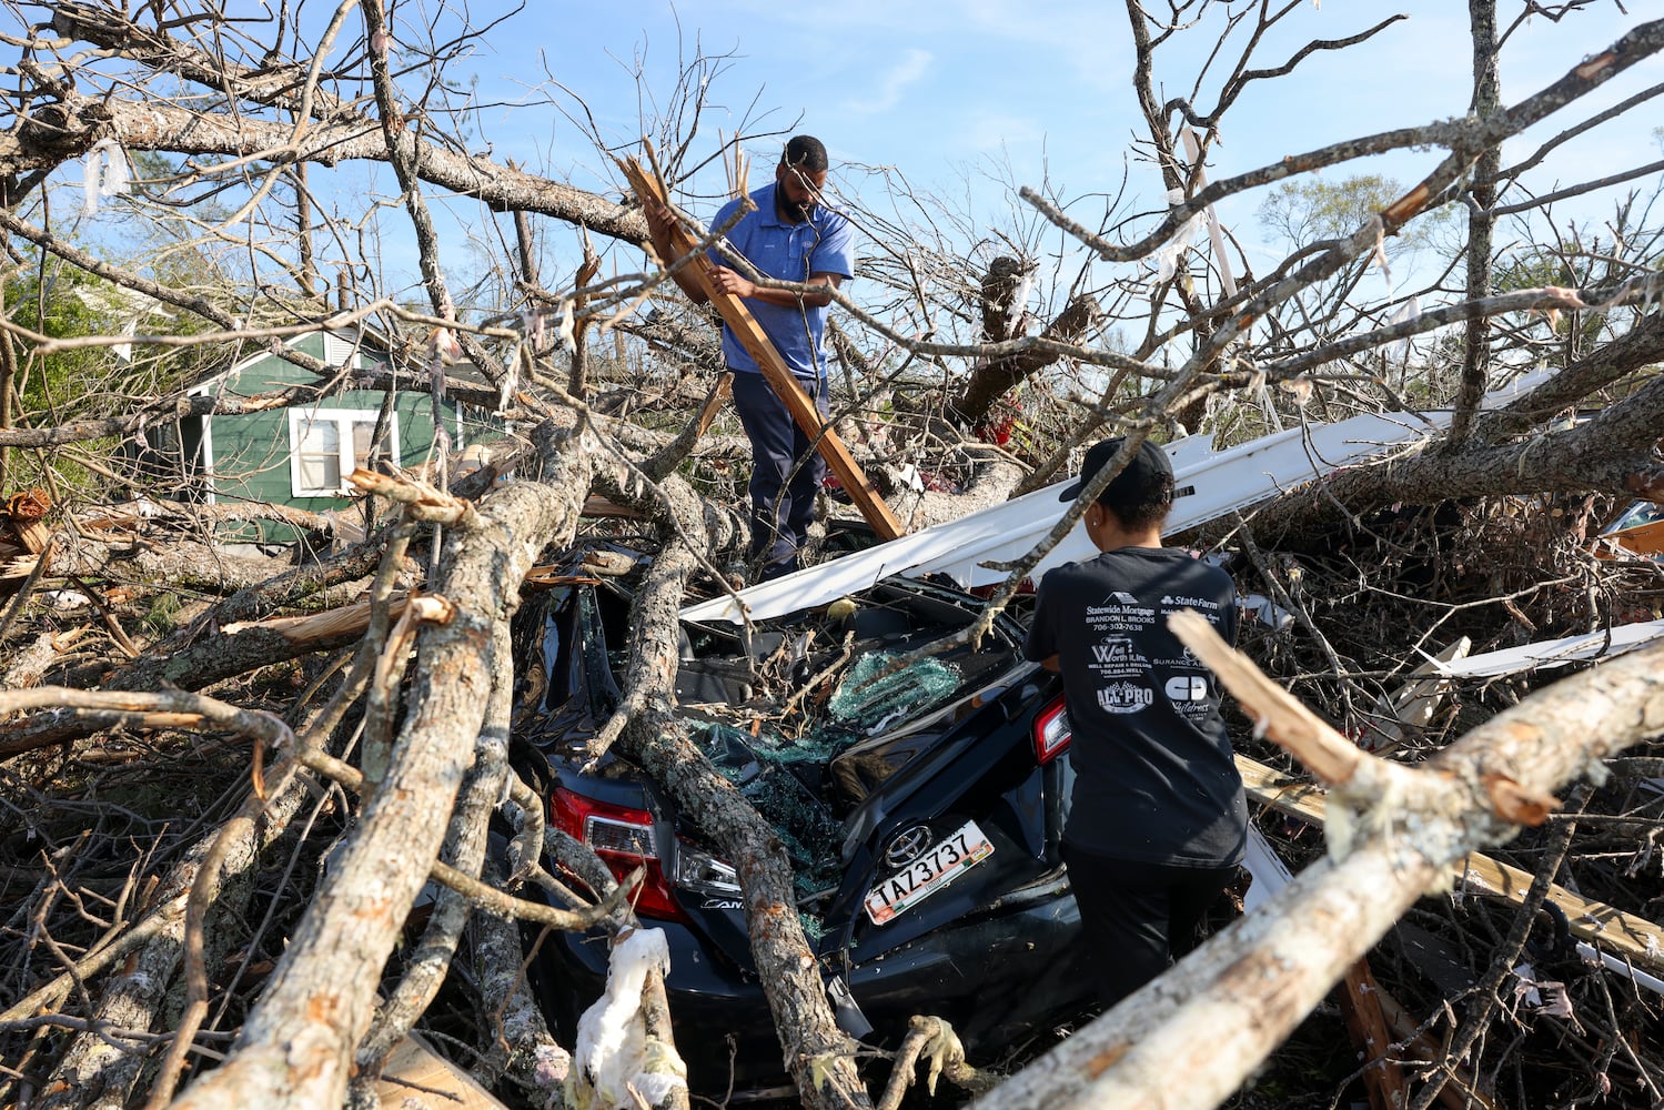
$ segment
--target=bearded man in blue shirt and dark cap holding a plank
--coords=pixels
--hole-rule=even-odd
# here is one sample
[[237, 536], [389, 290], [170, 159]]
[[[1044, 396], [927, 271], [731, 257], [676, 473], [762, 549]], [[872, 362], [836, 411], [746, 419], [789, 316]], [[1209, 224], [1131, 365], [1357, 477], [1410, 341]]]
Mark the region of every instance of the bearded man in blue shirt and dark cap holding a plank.
[[[849, 220], [820, 203], [827, 166], [827, 148], [819, 138], [792, 138], [774, 168], [774, 181], [750, 195], [755, 211], [734, 225], [711, 251], [706, 266], [714, 288], [745, 301], [799, 384], [815, 399], [822, 419], [827, 418], [822, 330], [832, 290], [854, 276], [850, 248], [855, 238]], [[739, 205], [739, 200], [724, 205], [711, 226], [724, 226]], [[664, 205], [651, 201], [646, 216], [659, 258], [672, 261], [669, 233], [674, 216]], [[722, 250], [742, 256], [765, 278], [799, 281], [809, 288], [759, 288], [729, 265]], [[709, 300], [686, 270], [674, 276], [691, 301], [702, 305]], [[752, 451], [749, 557], [759, 564], [757, 579], [767, 581], [799, 566], [825, 463], [727, 325], [722, 326], [722, 358], [734, 371], [734, 408]]]

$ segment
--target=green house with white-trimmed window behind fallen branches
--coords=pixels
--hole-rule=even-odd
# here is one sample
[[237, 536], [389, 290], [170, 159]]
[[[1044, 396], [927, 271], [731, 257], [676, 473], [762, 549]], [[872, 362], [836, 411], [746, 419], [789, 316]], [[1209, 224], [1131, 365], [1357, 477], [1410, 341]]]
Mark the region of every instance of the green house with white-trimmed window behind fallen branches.
[[[290, 346], [344, 373], [386, 369], [393, 364], [383, 343], [358, 331], [311, 333]], [[399, 366], [416, 376], [424, 368]], [[316, 376], [263, 351], [195, 384], [191, 396], [255, 396], [313, 384]], [[346, 483], [354, 468], [423, 469], [436, 453], [438, 428], [433, 398], [394, 393], [388, 428], [376, 443], [376, 426], [386, 393], [336, 389], [316, 404], [273, 408], [261, 413], [191, 416], [148, 436], [146, 469], [170, 471], [175, 496], [208, 504], [260, 503], [331, 513], [356, 498]], [[439, 419], [454, 458], [471, 443], [503, 434], [501, 423], [481, 409], [444, 401]], [[293, 528], [261, 521], [226, 539], [288, 541]]]

